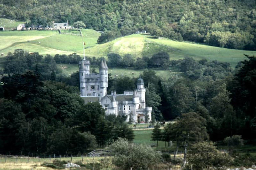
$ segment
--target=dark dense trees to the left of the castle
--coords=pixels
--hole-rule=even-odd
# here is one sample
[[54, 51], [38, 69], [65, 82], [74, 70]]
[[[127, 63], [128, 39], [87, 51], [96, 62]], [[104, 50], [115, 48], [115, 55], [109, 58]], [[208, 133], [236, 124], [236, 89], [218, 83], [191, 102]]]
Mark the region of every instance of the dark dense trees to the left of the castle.
[[77, 87], [79, 74], [56, 74], [53, 57], [15, 50], [8, 54], [4, 72], [0, 84], [1, 154], [83, 154], [118, 137], [134, 138], [127, 117], [105, 117], [98, 102], [84, 104]]

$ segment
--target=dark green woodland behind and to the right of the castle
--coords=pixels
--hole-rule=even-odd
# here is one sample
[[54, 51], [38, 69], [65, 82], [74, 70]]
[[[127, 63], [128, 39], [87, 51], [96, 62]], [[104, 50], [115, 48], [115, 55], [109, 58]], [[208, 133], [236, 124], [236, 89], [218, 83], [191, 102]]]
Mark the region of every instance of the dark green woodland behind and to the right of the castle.
[[[174, 120], [195, 112], [206, 120], [210, 140], [236, 134], [248, 141], [254, 139], [255, 62], [255, 57], [246, 56], [233, 69], [229, 63], [186, 57], [170, 61], [181, 75], [165, 78], [153, 70], [144, 70], [141, 77], [146, 87], [146, 105], [152, 107], [152, 119]], [[118, 93], [136, 85], [136, 80], [129, 77], [110, 80], [109, 90], [118, 89]]]

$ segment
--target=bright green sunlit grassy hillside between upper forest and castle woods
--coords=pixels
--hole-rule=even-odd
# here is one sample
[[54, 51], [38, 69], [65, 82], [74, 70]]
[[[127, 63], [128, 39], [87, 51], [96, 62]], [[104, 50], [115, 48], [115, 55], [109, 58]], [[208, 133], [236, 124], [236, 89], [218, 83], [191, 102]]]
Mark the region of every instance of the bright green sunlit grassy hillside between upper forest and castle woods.
[[111, 42], [97, 44], [100, 33], [95, 30], [82, 30], [83, 36], [59, 34], [57, 31], [12, 31], [0, 32], [0, 53], [6, 55], [15, 49], [25, 49], [29, 52], [39, 52], [42, 55], [70, 54], [82, 55], [82, 39], [86, 43], [87, 56], [106, 57], [108, 53], [120, 55], [132, 54], [134, 57], [149, 56], [157, 52], [167, 52], [171, 60], [186, 56], [197, 60], [218, 60], [229, 62], [235, 66], [244, 60], [243, 54], [256, 55], [256, 51], [244, 51], [213, 47], [201, 44], [173, 41], [167, 38], [155, 39], [149, 34], [132, 34], [117, 38]]

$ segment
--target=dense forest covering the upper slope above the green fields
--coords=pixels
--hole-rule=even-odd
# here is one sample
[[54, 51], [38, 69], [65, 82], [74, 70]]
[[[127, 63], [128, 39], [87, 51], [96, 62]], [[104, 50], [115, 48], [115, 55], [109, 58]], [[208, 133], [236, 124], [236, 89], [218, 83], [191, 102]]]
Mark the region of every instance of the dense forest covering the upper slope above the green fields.
[[107, 31], [99, 43], [146, 30], [157, 37], [256, 49], [255, 0], [0, 0], [0, 17], [40, 23], [76, 21]]

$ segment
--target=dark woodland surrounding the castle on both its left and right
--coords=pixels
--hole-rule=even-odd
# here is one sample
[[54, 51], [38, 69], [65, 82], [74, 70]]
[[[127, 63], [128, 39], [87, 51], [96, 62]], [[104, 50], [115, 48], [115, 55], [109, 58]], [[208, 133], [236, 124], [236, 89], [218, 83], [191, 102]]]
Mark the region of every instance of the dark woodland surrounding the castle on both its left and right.
[[[122, 67], [124, 58], [117, 58], [117, 54], [109, 55], [108, 65]], [[74, 145], [82, 152], [118, 137], [133, 139], [125, 117], [111, 115], [104, 119], [104, 110], [97, 102], [83, 103], [78, 72], [65, 77], [56, 66], [57, 61], [76, 63], [78, 59], [75, 53], [43, 57], [21, 49], [8, 54], [0, 85], [0, 113], [4, 113], [0, 118], [1, 152], [77, 153]], [[192, 113], [204, 120], [212, 141], [232, 135], [241, 135], [249, 143], [255, 139], [255, 57], [246, 56], [235, 68], [229, 63], [189, 57], [161, 62], [168, 59], [166, 53], [148, 59], [156, 60], [148, 68], [168, 67], [182, 73], [167, 79], [153, 70], [143, 71], [146, 105], [152, 107], [153, 121], [180, 120], [184, 113]], [[90, 60], [95, 64], [99, 61]], [[136, 79], [112, 78], [109, 74], [108, 93], [133, 90]], [[74, 138], [85, 142], [75, 143], [79, 140]]]

